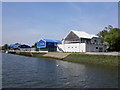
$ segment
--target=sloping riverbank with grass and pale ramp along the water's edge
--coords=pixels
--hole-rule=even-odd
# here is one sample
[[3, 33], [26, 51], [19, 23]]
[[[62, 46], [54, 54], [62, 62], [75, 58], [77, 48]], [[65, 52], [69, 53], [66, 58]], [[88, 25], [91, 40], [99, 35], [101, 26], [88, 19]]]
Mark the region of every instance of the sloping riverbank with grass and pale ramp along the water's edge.
[[[104, 66], [118, 66], [118, 60], [120, 56], [116, 55], [94, 55], [94, 54], [83, 54], [83, 53], [39, 53], [39, 52], [19, 52], [17, 55], [24, 55], [36, 58], [53, 58], [74, 63], [83, 64], [95, 64]], [[61, 56], [62, 58], [59, 58]]]

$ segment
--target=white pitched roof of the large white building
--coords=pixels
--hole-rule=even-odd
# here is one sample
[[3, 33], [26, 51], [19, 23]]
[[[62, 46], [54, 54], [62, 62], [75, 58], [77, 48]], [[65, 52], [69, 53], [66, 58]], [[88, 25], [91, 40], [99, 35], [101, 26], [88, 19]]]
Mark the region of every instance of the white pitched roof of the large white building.
[[88, 34], [86, 32], [83, 31], [76, 31], [76, 30], [71, 30], [74, 34], [76, 34], [79, 38], [93, 38], [93, 37], [98, 37], [97, 35], [93, 35], [93, 34]]

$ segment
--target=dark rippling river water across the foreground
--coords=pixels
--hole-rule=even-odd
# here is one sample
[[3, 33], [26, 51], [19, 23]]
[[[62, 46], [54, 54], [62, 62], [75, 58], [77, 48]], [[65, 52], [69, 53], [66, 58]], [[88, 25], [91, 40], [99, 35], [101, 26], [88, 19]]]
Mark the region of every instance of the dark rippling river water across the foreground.
[[117, 87], [117, 68], [2, 54], [2, 88]]

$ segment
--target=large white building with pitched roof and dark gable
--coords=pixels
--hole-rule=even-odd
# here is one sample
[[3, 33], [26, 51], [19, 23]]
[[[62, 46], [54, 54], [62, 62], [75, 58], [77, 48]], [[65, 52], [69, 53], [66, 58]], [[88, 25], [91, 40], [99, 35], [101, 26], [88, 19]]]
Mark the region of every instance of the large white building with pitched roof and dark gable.
[[71, 30], [58, 44], [58, 51], [62, 52], [104, 52], [106, 45], [101, 43], [98, 36], [83, 31]]

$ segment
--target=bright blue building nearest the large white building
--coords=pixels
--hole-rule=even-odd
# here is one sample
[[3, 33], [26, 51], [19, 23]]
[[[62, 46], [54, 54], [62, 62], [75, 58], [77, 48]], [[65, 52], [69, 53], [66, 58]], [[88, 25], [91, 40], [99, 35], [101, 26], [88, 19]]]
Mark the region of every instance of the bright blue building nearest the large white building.
[[37, 43], [37, 47], [41, 51], [57, 51], [57, 44], [62, 43], [60, 40], [41, 39]]

